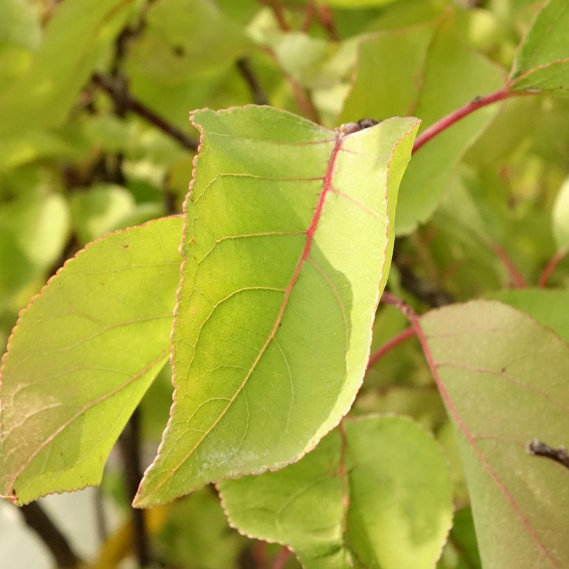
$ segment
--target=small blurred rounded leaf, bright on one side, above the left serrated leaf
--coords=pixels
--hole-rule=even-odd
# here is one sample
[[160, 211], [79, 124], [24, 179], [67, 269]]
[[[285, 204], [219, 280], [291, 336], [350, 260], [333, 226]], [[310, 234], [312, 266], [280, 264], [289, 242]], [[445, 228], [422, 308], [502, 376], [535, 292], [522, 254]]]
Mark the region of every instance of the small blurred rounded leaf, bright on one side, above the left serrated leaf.
[[71, 198], [71, 219], [81, 243], [120, 228], [135, 210], [133, 195], [116, 184], [93, 185]]

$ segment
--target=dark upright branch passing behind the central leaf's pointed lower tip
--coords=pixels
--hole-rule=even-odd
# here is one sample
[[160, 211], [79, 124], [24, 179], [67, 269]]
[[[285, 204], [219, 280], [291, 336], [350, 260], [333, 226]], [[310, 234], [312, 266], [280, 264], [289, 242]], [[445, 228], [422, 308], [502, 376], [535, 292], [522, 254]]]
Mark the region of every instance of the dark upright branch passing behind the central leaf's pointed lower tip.
[[[135, 409], [128, 421], [119, 443], [123, 455], [124, 470], [129, 498], [137, 493], [142, 472], [140, 468], [140, 411]], [[144, 510], [131, 508], [133, 516], [133, 541], [135, 554], [140, 567], [150, 564], [151, 556], [148, 550], [148, 535], [144, 523]]]

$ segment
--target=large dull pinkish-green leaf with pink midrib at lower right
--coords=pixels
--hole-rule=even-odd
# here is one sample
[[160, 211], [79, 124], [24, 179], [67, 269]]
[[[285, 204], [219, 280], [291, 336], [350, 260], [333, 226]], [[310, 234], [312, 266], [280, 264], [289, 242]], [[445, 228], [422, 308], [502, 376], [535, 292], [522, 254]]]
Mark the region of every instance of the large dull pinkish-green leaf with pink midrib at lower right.
[[568, 344], [493, 301], [445, 307], [421, 322], [455, 423], [482, 566], [565, 566], [567, 470], [525, 445], [568, 442]]

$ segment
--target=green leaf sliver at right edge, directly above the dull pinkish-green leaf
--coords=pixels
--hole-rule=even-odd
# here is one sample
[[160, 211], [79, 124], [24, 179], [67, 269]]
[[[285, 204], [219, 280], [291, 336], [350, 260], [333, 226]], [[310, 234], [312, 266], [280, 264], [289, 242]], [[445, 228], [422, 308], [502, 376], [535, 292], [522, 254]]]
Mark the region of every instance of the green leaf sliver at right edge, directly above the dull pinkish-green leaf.
[[552, 289], [509, 289], [491, 292], [486, 298], [500, 300], [527, 312], [569, 342], [569, 291]]

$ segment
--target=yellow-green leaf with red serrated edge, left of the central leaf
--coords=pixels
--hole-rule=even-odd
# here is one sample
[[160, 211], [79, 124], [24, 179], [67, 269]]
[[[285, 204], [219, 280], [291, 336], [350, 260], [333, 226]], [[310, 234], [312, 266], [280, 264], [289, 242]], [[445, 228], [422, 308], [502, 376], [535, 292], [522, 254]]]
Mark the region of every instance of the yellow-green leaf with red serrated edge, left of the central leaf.
[[100, 482], [169, 355], [181, 229], [171, 217], [94, 241], [22, 312], [1, 373], [5, 498]]

